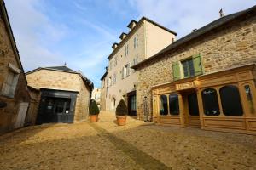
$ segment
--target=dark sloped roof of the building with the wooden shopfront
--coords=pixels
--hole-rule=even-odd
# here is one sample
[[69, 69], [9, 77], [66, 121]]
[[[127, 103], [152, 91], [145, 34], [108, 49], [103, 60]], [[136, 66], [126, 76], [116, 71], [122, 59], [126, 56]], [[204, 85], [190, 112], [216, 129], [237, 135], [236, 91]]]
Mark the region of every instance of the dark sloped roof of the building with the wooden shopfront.
[[212, 21], [211, 23], [207, 24], [206, 26], [203, 26], [200, 29], [189, 33], [187, 36], [178, 39], [176, 42], [172, 42], [169, 46], [167, 46], [166, 48], [161, 50], [158, 54], [154, 54], [153, 56], [149, 57], [148, 59], [144, 59], [142, 62], [138, 63], [137, 65], [133, 65], [131, 68], [137, 69], [144, 63], [147, 63], [149, 60], [159, 57], [160, 54], [164, 54], [167, 51], [177, 48], [186, 42], [194, 40], [195, 38], [200, 37], [201, 35], [206, 34], [207, 32], [212, 31], [212, 30], [218, 28], [219, 26], [224, 26], [224, 24], [227, 24], [232, 20], [236, 20], [237, 18], [241, 17], [244, 14], [248, 14], [251, 12], [256, 12], [256, 5], [253, 6], [252, 8], [248, 8], [246, 10], [242, 10], [242, 11], [234, 13], [234, 14], [229, 14], [229, 15], [219, 18], [218, 20]]

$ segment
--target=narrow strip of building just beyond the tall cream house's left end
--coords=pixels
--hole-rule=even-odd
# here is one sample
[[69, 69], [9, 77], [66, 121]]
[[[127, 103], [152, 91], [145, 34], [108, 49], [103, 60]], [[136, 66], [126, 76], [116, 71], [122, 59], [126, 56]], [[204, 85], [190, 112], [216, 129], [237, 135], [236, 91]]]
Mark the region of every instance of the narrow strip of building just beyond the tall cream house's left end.
[[108, 67], [106, 67], [106, 71], [104, 75], [101, 78], [102, 84], [101, 84], [101, 111], [107, 111], [106, 107], [106, 99], [108, 94]]

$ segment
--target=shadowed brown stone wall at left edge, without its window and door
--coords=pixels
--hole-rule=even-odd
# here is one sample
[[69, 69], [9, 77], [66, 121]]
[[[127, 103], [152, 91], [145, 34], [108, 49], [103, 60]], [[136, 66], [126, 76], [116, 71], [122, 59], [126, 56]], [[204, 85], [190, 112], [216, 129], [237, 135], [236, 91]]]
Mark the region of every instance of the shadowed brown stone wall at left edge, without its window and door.
[[6, 107], [0, 108], [0, 134], [14, 129], [20, 102], [30, 101], [26, 87], [26, 77], [22, 71], [20, 72], [14, 98], [5, 97], [1, 94], [3, 82], [9, 74], [9, 63], [21, 70], [16, 60], [14, 48], [11, 45], [3, 18], [0, 17], [0, 101], [7, 103]]

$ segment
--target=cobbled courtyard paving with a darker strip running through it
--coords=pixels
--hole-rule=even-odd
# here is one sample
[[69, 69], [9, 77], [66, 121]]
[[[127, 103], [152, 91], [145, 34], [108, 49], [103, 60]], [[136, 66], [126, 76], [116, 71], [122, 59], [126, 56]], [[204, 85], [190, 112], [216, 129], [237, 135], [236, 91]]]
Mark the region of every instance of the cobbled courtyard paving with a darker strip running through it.
[[256, 136], [128, 118], [45, 124], [0, 137], [0, 169], [256, 169]]

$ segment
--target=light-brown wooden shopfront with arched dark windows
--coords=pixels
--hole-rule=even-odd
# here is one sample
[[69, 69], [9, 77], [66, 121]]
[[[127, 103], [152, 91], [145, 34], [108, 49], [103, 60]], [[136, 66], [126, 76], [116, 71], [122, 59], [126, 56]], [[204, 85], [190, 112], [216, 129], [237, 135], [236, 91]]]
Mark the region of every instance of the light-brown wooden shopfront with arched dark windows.
[[154, 122], [256, 134], [253, 71], [255, 65], [244, 65], [152, 87]]

